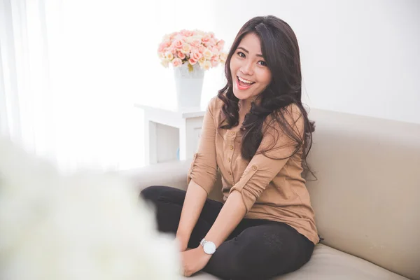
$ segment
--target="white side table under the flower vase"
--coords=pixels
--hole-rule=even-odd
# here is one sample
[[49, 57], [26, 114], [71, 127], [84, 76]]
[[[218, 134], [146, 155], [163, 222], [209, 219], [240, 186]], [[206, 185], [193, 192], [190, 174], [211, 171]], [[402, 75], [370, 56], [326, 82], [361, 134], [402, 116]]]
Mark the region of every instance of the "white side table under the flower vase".
[[200, 138], [204, 109], [162, 109], [135, 104], [144, 110], [146, 165], [193, 158]]

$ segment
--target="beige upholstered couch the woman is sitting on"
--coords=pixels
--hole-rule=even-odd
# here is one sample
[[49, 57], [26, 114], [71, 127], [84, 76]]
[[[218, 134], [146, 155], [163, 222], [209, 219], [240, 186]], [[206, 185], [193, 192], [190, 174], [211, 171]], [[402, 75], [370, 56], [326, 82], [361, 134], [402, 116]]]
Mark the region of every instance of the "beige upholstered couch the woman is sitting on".
[[[276, 279], [420, 280], [420, 125], [316, 109], [309, 116], [318, 180], [307, 188], [325, 240], [307, 265]], [[139, 189], [185, 189], [188, 167], [169, 162], [132, 175]]]

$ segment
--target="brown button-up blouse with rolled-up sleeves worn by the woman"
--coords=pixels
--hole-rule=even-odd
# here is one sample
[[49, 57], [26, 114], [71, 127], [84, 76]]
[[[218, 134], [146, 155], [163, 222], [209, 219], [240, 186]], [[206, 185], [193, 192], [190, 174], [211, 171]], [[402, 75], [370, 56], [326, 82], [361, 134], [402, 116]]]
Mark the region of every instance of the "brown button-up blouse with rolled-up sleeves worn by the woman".
[[[290, 157], [295, 151], [294, 141], [281, 133], [279, 124], [269, 116], [258, 148], [258, 151], [266, 151], [265, 155], [257, 151], [251, 161], [244, 160], [239, 125], [232, 130], [218, 128], [225, 120], [222, 106], [218, 97], [209, 102], [197, 153], [188, 171], [188, 183], [195, 181], [209, 194], [219, 169], [224, 201], [233, 190], [239, 191], [246, 206], [244, 218], [286, 223], [314, 244], [318, 243], [314, 210], [301, 175], [302, 148]], [[288, 106], [284, 116], [303, 137], [303, 118], [297, 106]]]

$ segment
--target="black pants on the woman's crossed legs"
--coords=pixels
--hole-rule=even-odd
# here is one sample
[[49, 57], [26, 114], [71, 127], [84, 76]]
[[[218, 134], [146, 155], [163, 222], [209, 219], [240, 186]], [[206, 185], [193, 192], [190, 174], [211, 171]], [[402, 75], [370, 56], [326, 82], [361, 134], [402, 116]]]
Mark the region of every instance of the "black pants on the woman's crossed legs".
[[[155, 204], [160, 232], [176, 233], [186, 191], [151, 186], [141, 192], [141, 197]], [[222, 207], [221, 202], [206, 200], [189, 248], [200, 245]], [[313, 251], [314, 244], [285, 223], [244, 218], [203, 270], [222, 279], [269, 279], [302, 267]]]

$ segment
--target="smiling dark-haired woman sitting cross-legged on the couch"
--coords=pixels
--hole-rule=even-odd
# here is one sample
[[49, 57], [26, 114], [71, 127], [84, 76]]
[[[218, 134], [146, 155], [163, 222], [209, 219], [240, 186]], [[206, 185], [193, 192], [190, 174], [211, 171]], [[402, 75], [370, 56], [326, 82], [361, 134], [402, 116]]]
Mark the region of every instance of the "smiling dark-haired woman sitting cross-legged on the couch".
[[[302, 178], [313, 127], [293, 30], [274, 16], [246, 22], [225, 76], [204, 116], [188, 190], [151, 186], [141, 195], [155, 204], [159, 230], [176, 233], [184, 275], [269, 279], [302, 267], [319, 241]], [[207, 199], [218, 169], [224, 203]]]

